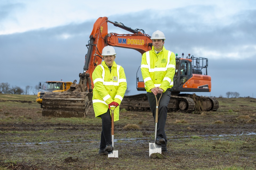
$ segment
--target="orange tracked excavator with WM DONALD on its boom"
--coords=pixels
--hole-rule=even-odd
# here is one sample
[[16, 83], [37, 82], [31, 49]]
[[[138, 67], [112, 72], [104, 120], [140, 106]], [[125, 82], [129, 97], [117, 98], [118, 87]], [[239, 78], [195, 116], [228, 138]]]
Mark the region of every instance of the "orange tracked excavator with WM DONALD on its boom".
[[[107, 23], [125, 29], [132, 34], [108, 33]], [[102, 62], [101, 52], [107, 46], [135, 49], [141, 54], [151, 50], [152, 40], [142, 29], [131, 29], [122, 23], [112, 22], [107, 17], [98, 18], [90, 35], [88, 52], [85, 56], [83, 73], [79, 74], [79, 83], [74, 80], [65, 92], [46, 92], [43, 96], [43, 116], [84, 117], [92, 105], [93, 81], [91, 75], [95, 67]], [[195, 65], [193, 64], [195, 62]], [[206, 63], [205, 63], [206, 62]], [[200, 65], [202, 63], [202, 66]], [[138, 63], [139, 65], [139, 63]], [[176, 54], [176, 74], [169, 111], [216, 111], [218, 101], [215, 98], [180, 94], [180, 92], [210, 92], [211, 77], [207, 75], [206, 58], [178, 58]], [[202, 69], [206, 74], [202, 75]], [[138, 69], [139, 70], [139, 69]], [[145, 90], [144, 82], [139, 81], [137, 72], [137, 90]], [[149, 111], [150, 106], [145, 93], [124, 96], [120, 108], [130, 111]]]

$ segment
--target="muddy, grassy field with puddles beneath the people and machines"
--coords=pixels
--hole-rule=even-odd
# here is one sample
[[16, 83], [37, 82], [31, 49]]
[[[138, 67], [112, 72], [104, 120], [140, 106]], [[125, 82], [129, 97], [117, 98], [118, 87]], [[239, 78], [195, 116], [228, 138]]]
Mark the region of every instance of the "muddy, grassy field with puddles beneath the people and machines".
[[216, 112], [168, 113], [167, 153], [149, 158], [150, 112], [120, 113], [118, 158], [98, 155], [101, 120], [42, 116], [39, 104], [0, 100], [0, 170], [7, 169], [255, 169], [256, 99], [218, 98]]

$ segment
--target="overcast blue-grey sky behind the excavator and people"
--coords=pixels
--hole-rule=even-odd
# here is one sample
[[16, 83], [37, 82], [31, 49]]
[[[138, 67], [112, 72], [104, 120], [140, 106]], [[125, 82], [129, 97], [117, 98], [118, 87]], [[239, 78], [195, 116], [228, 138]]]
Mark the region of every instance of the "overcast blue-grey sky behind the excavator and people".
[[[161, 30], [165, 48], [179, 57], [190, 53], [208, 58], [212, 91], [197, 95], [226, 97], [226, 92], [238, 92], [255, 98], [254, 0], [1, 0], [0, 83], [25, 89], [42, 81], [79, 81], [93, 24], [104, 16], [150, 36]], [[108, 29], [129, 33], [111, 23]], [[136, 90], [141, 54], [115, 49], [129, 95], [141, 93]]]

